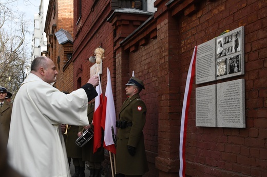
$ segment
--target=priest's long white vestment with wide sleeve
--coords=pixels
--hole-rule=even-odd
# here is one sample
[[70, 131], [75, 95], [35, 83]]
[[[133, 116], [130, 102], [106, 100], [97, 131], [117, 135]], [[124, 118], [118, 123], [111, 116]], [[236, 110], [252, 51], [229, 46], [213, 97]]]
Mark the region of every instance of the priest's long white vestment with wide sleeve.
[[70, 176], [61, 124], [88, 125], [87, 105], [84, 89], [65, 95], [29, 74], [13, 103], [10, 165], [29, 177]]

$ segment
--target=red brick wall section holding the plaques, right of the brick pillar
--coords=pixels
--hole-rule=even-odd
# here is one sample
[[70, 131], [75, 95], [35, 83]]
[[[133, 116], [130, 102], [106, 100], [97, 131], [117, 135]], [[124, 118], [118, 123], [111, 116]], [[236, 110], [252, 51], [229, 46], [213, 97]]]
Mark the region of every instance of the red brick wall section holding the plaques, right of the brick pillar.
[[[182, 8], [183, 5], [178, 6]], [[198, 3], [196, 9], [189, 16], [181, 15], [183, 13], [179, 12], [179, 16], [173, 17], [178, 24], [179, 35], [177, 40], [180, 43], [178, 70], [181, 81], [177, 83], [177, 87], [181, 91], [180, 105], [182, 105], [186, 72], [194, 46], [218, 36], [226, 29], [234, 30], [244, 26], [245, 75], [224, 79], [223, 82], [240, 78], [245, 79], [246, 128], [196, 127], [194, 89], [187, 125], [186, 174], [190, 176], [264, 176], [267, 172], [265, 161], [267, 151], [266, 136], [262, 132], [265, 131], [267, 126], [267, 121], [264, 119], [267, 114], [266, 97], [264, 97], [266, 94], [260, 95], [260, 93], [266, 93], [266, 75], [262, 74], [266, 74], [266, 52], [263, 52], [266, 51], [264, 42], [266, 41], [266, 34], [263, 35], [266, 31], [264, 25], [266, 21], [266, 2], [206, 1]], [[249, 11], [253, 12], [249, 13]], [[158, 39], [159, 35], [158, 31]], [[219, 82], [222, 81], [207, 84]], [[159, 115], [161, 114], [159, 112]], [[159, 123], [159, 129], [160, 126]], [[170, 124], [169, 128], [171, 129], [171, 127], [173, 127], [173, 124]], [[168, 132], [166, 134], [168, 135]], [[170, 148], [178, 147], [173, 145]], [[164, 152], [165, 149], [163, 147], [161, 149], [159, 145], [159, 157], [160, 151]]]

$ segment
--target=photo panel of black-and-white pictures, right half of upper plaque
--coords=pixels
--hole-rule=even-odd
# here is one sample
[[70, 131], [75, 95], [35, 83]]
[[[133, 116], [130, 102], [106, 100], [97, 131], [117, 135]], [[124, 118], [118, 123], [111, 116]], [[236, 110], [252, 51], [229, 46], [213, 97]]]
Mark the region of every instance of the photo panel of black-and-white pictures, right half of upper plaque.
[[244, 74], [244, 27], [216, 38], [217, 80]]

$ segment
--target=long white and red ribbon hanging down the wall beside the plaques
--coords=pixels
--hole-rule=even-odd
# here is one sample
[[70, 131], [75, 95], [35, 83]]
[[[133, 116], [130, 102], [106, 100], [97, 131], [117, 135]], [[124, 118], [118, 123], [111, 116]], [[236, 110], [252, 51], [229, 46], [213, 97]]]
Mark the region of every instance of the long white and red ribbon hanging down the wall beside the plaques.
[[193, 81], [196, 73], [196, 56], [197, 56], [197, 46], [194, 49], [193, 56], [189, 65], [189, 70], [186, 78], [186, 85], [184, 91], [183, 109], [182, 109], [182, 119], [181, 119], [181, 129], [180, 129], [180, 170], [179, 176], [185, 176], [185, 140], [186, 140], [186, 129], [188, 121], [188, 109], [190, 105], [190, 96], [193, 87]]

